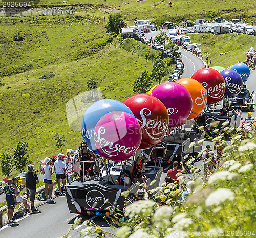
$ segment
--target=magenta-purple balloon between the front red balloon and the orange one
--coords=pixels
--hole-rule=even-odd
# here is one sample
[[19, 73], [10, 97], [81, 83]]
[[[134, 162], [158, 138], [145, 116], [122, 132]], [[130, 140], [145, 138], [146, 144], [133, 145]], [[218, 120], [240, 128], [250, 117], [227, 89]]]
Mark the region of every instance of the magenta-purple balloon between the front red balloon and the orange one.
[[193, 101], [183, 85], [175, 82], [161, 83], [153, 89], [151, 95], [158, 98], [166, 107], [170, 127], [185, 123], [191, 113]]

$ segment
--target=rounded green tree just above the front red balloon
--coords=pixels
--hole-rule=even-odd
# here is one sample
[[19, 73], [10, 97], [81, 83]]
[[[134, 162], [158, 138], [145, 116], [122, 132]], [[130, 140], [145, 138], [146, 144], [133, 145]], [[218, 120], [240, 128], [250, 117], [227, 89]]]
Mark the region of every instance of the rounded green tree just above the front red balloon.
[[153, 86], [151, 75], [144, 70], [140, 73], [137, 79], [134, 80], [132, 86], [134, 93], [147, 93]]

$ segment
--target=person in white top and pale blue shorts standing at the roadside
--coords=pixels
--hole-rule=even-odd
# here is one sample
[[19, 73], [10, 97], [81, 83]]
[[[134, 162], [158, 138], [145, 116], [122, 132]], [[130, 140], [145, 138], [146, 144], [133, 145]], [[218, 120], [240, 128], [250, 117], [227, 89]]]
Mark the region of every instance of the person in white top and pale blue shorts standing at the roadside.
[[51, 199], [52, 196], [52, 189], [53, 189], [53, 182], [52, 182], [52, 166], [50, 165], [51, 159], [46, 157], [44, 159], [46, 165], [44, 168], [42, 168], [42, 174], [45, 175], [44, 183], [45, 183], [45, 195], [46, 195], [46, 201], [47, 202], [54, 202]]

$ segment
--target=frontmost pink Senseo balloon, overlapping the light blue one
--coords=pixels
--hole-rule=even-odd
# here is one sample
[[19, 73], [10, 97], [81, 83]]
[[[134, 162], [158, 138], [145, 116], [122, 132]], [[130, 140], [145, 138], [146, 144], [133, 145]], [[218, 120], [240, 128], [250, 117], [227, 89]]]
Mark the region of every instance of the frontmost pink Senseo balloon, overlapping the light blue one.
[[110, 112], [97, 123], [94, 131], [97, 152], [110, 160], [127, 160], [139, 148], [140, 124], [126, 112]]

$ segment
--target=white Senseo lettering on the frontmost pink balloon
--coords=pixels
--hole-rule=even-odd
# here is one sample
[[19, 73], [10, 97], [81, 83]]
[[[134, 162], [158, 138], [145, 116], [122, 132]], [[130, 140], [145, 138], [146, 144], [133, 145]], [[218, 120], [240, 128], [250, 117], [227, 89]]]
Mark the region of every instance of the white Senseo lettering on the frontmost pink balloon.
[[102, 136], [105, 134], [105, 132], [106, 130], [103, 126], [99, 127], [98, 133], [96, 131], [94, 132], [94, 140], [95, 140], [95, 144], [97, 143], [97, 147], [99, 145], [101, 150], [108, 156], [115, 157], [119, 153], [130, 154], [131, 152], [136, 150], [135, 146], [130, 146], [130, 147], [121, 146], [119, 144], [114, 144], [115, 141], [112, 142], [112, 141], [106, 140]]

